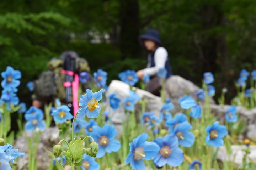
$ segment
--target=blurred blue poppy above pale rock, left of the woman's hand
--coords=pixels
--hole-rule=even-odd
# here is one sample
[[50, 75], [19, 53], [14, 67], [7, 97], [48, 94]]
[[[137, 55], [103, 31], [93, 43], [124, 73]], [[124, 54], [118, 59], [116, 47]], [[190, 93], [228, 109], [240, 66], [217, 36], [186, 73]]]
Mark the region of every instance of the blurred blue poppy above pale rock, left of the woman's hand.
[[134, 86], [139, 81], [139, 77], [134, 70], [126, 70], [118, 74], [118, 77], [124, 83]]

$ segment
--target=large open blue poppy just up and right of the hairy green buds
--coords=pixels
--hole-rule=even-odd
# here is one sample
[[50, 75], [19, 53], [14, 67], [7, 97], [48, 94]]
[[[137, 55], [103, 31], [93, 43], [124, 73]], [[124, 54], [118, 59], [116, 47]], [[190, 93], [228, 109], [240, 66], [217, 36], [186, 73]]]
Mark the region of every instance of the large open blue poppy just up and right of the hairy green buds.
[[117, 130], [113, 125], [105, 124], [102, 128], [100, 126], [92, 126], [90, 136], [99, 144], [96, 158], [103, 157], [106, 152], [117, 152], [120, 149], [121, 143], [114, 139], [116, 135]]

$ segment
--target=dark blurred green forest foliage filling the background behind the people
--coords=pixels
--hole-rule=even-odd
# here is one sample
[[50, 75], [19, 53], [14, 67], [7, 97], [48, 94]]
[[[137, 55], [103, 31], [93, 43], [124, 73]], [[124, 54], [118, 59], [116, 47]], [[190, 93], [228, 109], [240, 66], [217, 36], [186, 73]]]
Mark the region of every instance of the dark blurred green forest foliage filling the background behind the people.
[[21, 70], [19, 89], [65, 50], [108, 72], [108, 83], [142, 69], [137, 36], [148, 28], [160, 31], [175, 74], [199, 85], [213, 72], [217, 96], [227, 87], [230, 100], [240, 70], [256, 68], [256, 0], [1, 0], [0, 9], [0, 71]]

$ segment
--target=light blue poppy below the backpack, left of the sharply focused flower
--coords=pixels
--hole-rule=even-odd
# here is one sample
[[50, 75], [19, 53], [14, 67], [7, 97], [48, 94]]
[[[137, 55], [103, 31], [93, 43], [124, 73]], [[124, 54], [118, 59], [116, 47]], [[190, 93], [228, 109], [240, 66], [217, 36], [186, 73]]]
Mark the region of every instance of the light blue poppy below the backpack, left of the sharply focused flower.
[[57, 109], [53, 111], [52, 116], [54, 121], [60, 124], [73, 118], [73, 115], [70, 113], [70, 108], [66, 105], [57, 107]]

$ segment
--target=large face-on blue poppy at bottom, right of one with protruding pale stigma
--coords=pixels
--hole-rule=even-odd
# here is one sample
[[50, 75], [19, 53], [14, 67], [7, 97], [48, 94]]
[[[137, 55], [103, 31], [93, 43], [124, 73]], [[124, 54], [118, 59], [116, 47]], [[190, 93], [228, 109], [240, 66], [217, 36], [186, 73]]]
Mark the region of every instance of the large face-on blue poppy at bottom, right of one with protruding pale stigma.
[[160, 147], [158, 154], [153, 157], [153, 162], [156, 166], [162, 167], [168, 164], [171, 167], [177, 167], [183, 163], [184, 155], [178, 147], [178, 138], [176, 136], [158, 137], [153, 142]]

